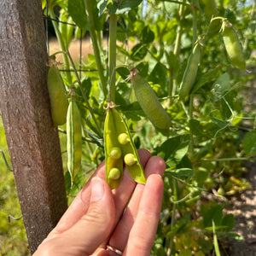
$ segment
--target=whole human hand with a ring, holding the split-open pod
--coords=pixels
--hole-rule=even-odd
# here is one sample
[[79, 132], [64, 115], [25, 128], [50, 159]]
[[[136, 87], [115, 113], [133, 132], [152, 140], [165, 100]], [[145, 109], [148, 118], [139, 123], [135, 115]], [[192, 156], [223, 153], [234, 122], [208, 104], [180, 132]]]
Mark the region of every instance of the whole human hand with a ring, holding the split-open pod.
[[166, 164], [145, 149], [138, 154], [145, 185], [125, 170], [119, 187], [111, 190], [102, 162], [33, 255], [149, 255], [160, 217]]

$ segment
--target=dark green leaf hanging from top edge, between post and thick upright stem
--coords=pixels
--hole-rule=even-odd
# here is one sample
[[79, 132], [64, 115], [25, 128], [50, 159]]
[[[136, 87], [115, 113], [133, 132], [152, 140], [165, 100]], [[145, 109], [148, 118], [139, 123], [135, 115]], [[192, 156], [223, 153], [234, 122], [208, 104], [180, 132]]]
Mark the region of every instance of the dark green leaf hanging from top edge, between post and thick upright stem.
[[68, 14], [72, 17], [77, 26], [83, 30], [90, 28], [85, 12], [84, 0], [68, 0], [67, 9]]

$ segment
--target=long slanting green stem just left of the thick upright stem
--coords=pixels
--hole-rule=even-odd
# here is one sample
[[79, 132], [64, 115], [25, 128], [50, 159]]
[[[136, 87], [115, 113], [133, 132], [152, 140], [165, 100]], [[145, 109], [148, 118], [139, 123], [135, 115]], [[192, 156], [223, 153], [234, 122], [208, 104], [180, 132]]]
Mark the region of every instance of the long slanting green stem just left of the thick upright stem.
[[88, 14], [88, 19], [90, 22], [90, 29], [89, 29], [90, 38], [91, 38], [91, 42], [92, 42], [92, 46], [93, 46], [93, 50], [94, 50], [94, 55], [96, 58], [96, 65], [98, 68], [98, 73], [99, 73], [99, 77], [100, 77], [100, 81], [101, 81], [101, 85], [102, 85], [102, 92], [103, 92], [105, 98], [107, 98], [107, 94], [108, 94], [107, 82], [106, 82], [106, 78], [104, 76], [104, 69], [103, 69], [103, 65], [102, 65], [99, 45], [97, 42], [96, 28], [95, 28], [94, 17], [93, 17], [92, 6], [91, 6], [90, 0], [85, 0], [85, 6], [86, 6], [87, 14]]

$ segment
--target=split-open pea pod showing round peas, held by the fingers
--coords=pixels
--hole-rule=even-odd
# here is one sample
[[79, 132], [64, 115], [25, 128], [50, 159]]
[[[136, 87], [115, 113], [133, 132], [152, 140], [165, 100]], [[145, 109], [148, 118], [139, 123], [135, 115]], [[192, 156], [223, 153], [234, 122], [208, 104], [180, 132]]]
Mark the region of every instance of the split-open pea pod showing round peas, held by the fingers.
[[131, 177], [137, 183], [146, 183], [137, 148], [132, 141], [125, 120], [115, 109], [113, 102], [108, 102], [104, 125], [104, 147], [106, 179], [111, 189], [117, 188], [122, 180], [123, 161]]

